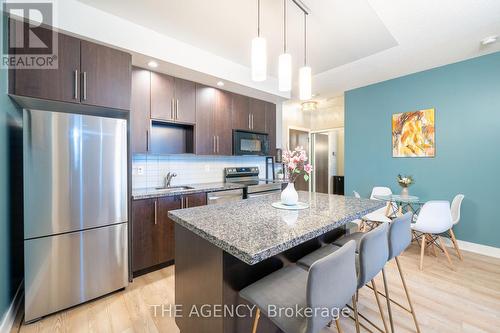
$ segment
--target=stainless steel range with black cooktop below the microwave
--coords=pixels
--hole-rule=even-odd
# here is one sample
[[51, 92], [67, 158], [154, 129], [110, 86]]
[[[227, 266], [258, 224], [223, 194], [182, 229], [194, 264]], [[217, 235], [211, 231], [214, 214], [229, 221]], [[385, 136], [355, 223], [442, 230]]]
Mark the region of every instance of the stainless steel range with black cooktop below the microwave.
[[281, 191], [280, 182], [259, 178], [258, 167], [225, 168], [224, 180], [227, 183], [244, 185], [244, 199], [279, 193]]

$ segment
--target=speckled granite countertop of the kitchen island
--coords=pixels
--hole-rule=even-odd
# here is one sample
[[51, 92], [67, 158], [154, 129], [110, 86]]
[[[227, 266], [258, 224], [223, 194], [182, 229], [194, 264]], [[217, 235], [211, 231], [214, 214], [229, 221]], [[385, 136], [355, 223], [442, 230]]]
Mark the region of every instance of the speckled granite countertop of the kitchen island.
[[221, 205], [174, 210], [169, 217], [249, 265], [361, 218], [384, 202], [339, 195], [299, 192], [310, 207], [276, 209], [280, 194]]

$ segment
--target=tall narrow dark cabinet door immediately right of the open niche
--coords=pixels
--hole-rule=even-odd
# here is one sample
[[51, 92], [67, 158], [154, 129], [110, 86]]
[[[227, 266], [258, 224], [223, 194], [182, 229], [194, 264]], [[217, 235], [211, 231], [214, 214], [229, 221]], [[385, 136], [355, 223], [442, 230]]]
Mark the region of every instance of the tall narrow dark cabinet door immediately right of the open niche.
[[195, 151], [198, 155], [215, 154], [215, 137], [212, 134], [215, 109], [215, 88], [196, 85]]

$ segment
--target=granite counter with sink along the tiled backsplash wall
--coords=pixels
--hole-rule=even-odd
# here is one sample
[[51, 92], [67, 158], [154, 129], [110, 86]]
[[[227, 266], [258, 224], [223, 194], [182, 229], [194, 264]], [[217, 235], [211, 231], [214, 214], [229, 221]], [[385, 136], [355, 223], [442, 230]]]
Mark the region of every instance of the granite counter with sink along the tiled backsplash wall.
[[[175, 186], [183, 186], [183, 185], [173, 185]], [[178, 190], [178, 191], [165, 191], [158, 190], [155, 188], [146, 188], [146, 189], [136, 189], [132, 190], [132, 199], [133, 200], [141, 200], [141, 199], [150, 199], [150, 198], [159, 198], [159, 197], [168, 197], [182, 194], [193, 194], [193, 193], [208, 193], [208, 192], [217, 192], [217, 191], [225, 191], [225, 190], [237, 190], [244, 188], [243, 185], [234, 184], [234, 183], [203, 183], [203, 184], [190, 184], [185, 185], [192, 187], [191, 189]]]

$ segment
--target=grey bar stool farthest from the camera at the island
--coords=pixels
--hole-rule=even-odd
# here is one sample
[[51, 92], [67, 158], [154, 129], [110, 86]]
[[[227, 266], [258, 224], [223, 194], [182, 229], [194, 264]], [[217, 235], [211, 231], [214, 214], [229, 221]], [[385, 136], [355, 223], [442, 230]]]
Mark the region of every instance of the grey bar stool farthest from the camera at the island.
[[[403, 283], [403, 288], [405, 290], [406, 298], [408, 300], [408, 304], [410, 308], [406, 308], [405, 306], [399, 304], [398, 302], [392, 300], [389, 295], [389, 287], [387, 284], [387, 278], [385, 275], [385, 269], [382, 269], [382, 277], [384, 280], [384, 289], [385, 289], [385, 295], [383, 295], [386, 300], [387, 300], [387, 308], [389, 311], [389, 321], [391, 324], [391, 331], [394, 332], [394, 321], [392, 317], [392, 310], [391, 310], [391, 302], [402, 308], [403, 310], [411, 313], [413, 317], [413, 321], [415, 322], [415, 328], [417, 330], [417, 333], [420, 333], [420, 327], [418, 325], [417, 321], [417, 316], [415, 314], [415, 309], [413, 307], [413, 304], [411, 302], [410, 298], [410, 292], [408, 290], [408, 286], [406, 285], [406, 281], [404, 278], [403, 274], [403, 269], [401, 267], [401, 263], [399, 262], [399, 256], [401, 253], [403, 253], [406, 248], [411, 244], [411, 221], [413, 218], [413, 213], [408, 212], [404, 214], [403, 216], [400, 216], [396, 219], [394, 219], [392, 222], [389, 223], [389, 232], [388, 232], [388, 242], [389, 242], [389, 256], [387, 261], [390, 261], [394, 259], [396, 261], [398, 271], [399, 271], [399, 276], [401, 277], [401, 282]], [[339, 240], [335, 241], [334, 244], [336, 246], [342, 246], [342, 244], [345, 244], [347, 242], [350, 242], [354, 240], [357, 243], [358, 246], [358, 252], [359, 252], [359, 241], [363, 237], [362, 232], [355, 232], [353, 234], [344, 236], [340, 238]]]

